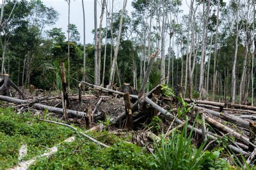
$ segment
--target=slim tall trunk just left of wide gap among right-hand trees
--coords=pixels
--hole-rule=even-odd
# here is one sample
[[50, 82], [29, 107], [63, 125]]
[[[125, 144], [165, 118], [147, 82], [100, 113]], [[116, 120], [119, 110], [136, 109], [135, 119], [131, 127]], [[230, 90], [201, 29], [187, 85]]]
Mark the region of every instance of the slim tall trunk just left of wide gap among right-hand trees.
[[216, 33], [215, 33], [215, 45], [214, 45], [214, 61], [213, 61], [213, 83], [212, 83], [212, 100], [215, 101], [215, 86], [218, 71], [216, 70], [216, 62], [217, 62], [217, 42], [218, 42], [218, 33], [219, 33], [219, 8], [220, 8], [220, 0], [218, 0], [218, 8], [217, 8], [217, 23], [216, 23]]

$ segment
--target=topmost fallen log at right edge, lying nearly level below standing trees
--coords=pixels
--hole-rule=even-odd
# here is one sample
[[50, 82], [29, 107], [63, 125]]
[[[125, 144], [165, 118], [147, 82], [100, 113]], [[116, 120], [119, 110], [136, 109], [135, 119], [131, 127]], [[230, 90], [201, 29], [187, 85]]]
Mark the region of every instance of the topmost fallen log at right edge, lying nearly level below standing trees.
[[256, 110], [256, 107], [253, 107], [251, 105], [241, 105], [241, 104], [227, 104], [225, 105], [225, 103], [218, 103], [218, 102], [212, 102], [212, 101], [201, 101], [201, 100], [192, 100], [192, 99], [188, 99], [188, 98], [184, 98], [185, 102], [191, 103], [191, 102], [195, 102], [195, 103], [199, 103], [199, 104], [208, 104], [208, 105], [214, 105], [217, 107], [232, 107], [232, 108], [237, 108], [237, 109], [248, 109], [248, 110]]

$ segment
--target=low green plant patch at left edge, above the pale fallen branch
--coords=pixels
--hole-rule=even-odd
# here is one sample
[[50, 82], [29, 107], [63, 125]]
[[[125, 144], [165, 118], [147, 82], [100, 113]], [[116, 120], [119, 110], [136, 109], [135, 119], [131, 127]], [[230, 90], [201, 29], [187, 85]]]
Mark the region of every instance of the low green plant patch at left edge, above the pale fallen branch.
[[12, 109], [0, 108], [0, 169], [17, 164], [19, 148], [28, 145], [28, 155], [23, 160], [42, 154], [72, 135], [65, 126], [38, 122], [29, 112], [16, 114]]

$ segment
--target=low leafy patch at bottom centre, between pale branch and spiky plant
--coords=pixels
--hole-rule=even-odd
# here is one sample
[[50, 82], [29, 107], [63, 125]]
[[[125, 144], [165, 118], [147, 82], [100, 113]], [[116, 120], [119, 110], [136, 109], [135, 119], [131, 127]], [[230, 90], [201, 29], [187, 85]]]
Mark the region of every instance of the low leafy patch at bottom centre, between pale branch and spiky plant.
[[77, 137], [72, 144], [59, 147], [49, 159], [41, 159], [32, 169], [151, 169], [153, 158], [143, 148], [117, 142], [112, 148], [101, 148]]

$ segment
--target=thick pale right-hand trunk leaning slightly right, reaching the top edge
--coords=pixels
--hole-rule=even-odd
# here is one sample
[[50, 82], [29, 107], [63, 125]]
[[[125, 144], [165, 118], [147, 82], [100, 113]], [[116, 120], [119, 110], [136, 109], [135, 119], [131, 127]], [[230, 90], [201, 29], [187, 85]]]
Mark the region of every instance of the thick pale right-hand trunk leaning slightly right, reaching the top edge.
[[199, 77], [199, 99], [203, 98], [203, 85], [204, 85], [204, 61], [205, 61], [205, 49], [206, 49], [206, 37], [207, 37], [207, 23], [208, 17], [210, 13], [210, 5], [211, 0], [207, 0], [207, 9], [205, 10], [205, 2], [204, 2], [204, 11], [206, 11], [206, 15], [204, 15], [204, 29], [203, 29], [203, 37], [202, 37], [202, 52], [201, 52], [201, 63], [200, 63], [200, 77]]

